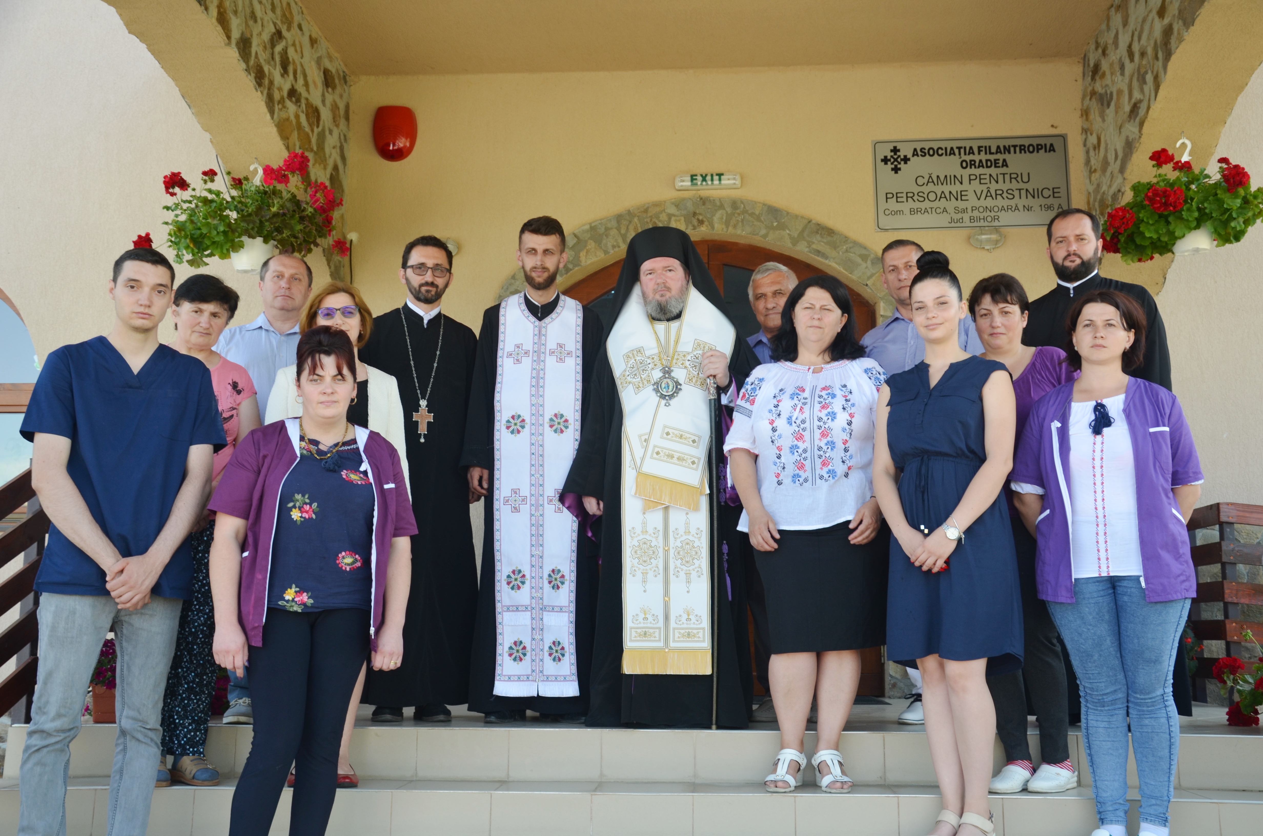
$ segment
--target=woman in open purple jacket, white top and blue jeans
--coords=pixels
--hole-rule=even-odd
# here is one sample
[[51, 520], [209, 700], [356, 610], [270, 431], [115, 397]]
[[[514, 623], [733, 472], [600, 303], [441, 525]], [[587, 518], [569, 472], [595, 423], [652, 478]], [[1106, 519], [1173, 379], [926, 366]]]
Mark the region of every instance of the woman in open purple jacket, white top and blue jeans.
[[1092, 836], [1127, 836], [1127, 746], [1140, 778], [1140, 836], [1167, 836], [1180, 722], [1171, 669], [1197, 577], [1188, 515], [1201, 466], [1176, 397], [1130, 378], [1144, 313], [1114, 290], [1066, 319], [1081, 369], [1036, 403], [1013, 466], [1036, 534], [1036, 583], [1070, 649], [1092, 774]]

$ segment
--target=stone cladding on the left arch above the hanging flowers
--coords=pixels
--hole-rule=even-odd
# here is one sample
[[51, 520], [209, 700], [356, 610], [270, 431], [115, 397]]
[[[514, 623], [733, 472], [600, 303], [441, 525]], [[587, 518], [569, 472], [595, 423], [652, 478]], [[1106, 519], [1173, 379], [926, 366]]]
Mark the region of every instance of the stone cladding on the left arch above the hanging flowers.
[[[254, 83], [280, 141], [307, 152], [312, 179], [346, 194], [351, 141], [351, 83], [342, 61], [297, 0], [197, 0], [232, 47]], [[279, 160], [260, 160], [277, 163]], [[249, 172], [237, 172], [249, 174]], [[335, 230], [345, 232], [342, 210]], [[325, 251], [330, 274], [342, 278], [344, 260]]]

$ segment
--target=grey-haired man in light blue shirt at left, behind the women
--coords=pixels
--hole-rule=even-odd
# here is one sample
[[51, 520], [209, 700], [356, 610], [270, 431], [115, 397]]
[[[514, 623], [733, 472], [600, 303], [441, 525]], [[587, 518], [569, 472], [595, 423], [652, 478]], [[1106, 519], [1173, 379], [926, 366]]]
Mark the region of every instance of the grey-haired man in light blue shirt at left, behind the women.
[[297, 362], [298, 321], [312, 294], [312, 269], [297, 255], [273, 255], [259, 268], [259, 318], [225, 328], [215, 350], [250, 373], [259, 393], [259, 414], [266, 415], [277, 371]]

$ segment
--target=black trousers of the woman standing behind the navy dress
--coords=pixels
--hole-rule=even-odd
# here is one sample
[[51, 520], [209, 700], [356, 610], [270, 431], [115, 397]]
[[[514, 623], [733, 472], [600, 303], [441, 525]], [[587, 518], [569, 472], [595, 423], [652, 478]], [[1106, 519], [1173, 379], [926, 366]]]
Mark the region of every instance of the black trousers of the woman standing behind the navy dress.
[[1034, 538], [1013, 520], [1013, 546], [1018, 557], [1018, 582], [1022, 587], [1022, 625], [1026, 630], [1026, 658], [1021, 671], [988, 677], [995, 702], [995, 731], [1004, 745], [1005, 760], [1031, 760], [1027, 740], [1027, 695], [1039, 721], [1039, 759], [1060, 764], [1070, 758], [1066, 729], [1070, 722], [1066, 697], [1066, 666], [1061, 658], [1057, 626], [1047, 605], [1036, 594]]

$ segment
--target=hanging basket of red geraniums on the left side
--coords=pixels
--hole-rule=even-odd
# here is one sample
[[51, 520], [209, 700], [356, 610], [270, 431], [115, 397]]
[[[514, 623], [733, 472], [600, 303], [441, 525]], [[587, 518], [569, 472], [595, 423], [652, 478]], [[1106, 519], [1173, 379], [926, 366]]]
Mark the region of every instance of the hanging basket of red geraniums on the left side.
[[307, 154], [293, 152], [280, 165], [264, 165], [254, 181], [213, 168], [202, 172], [201, 186], [179, 172], [163, 177], [163, 191], [176, 198], [163, 207], [172, 213], [163, 224], [176, 263], [201, 268], [211, 258], [232, 258], [239, 270], [256, 270], [273, 246], [306, 256], [323, 242], [345, 258], [346, 241], [333, 237], [333, 210], [342, 198], [327, 183], [313, 183], [309, 165]]

